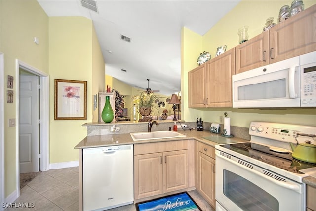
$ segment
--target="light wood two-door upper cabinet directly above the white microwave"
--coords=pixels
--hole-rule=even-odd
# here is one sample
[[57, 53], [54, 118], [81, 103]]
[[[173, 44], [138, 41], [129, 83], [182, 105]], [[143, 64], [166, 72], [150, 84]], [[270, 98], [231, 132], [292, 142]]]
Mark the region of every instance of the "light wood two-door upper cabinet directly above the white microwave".
[[236, 74], [316, 50], [316, 5], [236, 49]]

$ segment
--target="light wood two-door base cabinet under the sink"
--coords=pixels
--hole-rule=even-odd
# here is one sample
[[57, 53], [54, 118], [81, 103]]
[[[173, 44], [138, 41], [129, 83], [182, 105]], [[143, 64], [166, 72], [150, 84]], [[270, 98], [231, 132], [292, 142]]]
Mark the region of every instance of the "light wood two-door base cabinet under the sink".
[[134, 199], [187, 187], [188, 141], [134, 145]]

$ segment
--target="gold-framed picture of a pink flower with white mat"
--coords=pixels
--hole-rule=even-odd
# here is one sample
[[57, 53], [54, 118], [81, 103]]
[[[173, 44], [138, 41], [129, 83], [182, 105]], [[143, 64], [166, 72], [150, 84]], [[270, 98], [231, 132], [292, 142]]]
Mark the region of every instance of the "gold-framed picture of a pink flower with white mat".
[[55, 120], [86, 120], [87, 81], [55, 79]]

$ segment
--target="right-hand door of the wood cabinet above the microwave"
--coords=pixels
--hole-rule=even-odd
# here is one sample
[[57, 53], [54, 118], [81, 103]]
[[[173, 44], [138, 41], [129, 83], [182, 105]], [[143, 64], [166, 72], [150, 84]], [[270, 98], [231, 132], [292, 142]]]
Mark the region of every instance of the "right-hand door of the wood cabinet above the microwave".
[[270, 63], [316, 50], [316, 4], [270, 29]]

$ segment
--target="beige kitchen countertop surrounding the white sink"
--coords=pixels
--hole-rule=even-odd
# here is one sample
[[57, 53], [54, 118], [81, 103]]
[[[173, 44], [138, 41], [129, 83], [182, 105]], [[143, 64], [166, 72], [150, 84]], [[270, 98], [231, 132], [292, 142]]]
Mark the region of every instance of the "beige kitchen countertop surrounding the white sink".
[[[153, 139], [153, 140], [141, 140], [141, 141], [133, 141], [132, 137], [129, 133], [126, 134], [111, 134], [111, 135], [93, 135], [86, 136], [79, 144], [75, 146], [75, 149], [84, 149], [84, 148], [92, 148], [92, 147], [106, 147], [106, 146], [116, 146], [116, 145], [126, 145], [126, 144], [142, 144], [142, 143], [152, 143], [152, 142], [164, 142], [164, 141], [175, 141], [175, 140], [188, 140], [194, 139], [200, 141], [202, 143], [208, 144], [210, 146], [215, 147], [215, 142], [219, 137], [222, 137], [220, 134], [211, 133], [207, 130], [197, 131], [197, 130], [178, 130], [177, 132], [186, 135], [186, 137], [180, 138], [161, 138], [161, 139]], [[203, 137], [208, 137], [211, 139], [214, 137], [214, 141], [209, 139], [205, 139]], [[227, 143], [232, 142], [245, 142], [248, 140], [242, 138], [225, 138], [222, 139], [227, 140]]]

